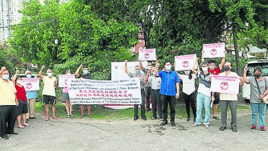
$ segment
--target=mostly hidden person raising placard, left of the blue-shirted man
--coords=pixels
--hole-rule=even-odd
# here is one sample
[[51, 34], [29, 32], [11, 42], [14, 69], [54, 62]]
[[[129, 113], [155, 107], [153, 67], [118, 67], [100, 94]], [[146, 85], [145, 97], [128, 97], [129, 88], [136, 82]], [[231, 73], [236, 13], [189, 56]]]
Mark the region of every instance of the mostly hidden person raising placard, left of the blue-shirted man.
[[[139, 67], [141, 67], [142, 71], [144, 72], [145, 75], [147, 75], [147, 73], [149, 74], [149, 77], [153, 75], [153, 63], [152, 61], [148, 61], [147, 62], [147, 68], [144, 68], [142, 65], [142, 61], [139, 60]], [[145, 98], [146, 98], [146, 111], [150, 111], [150, 89], [151, 89], [151, 84], [150, 82], [148, 82], [145, 85]]]

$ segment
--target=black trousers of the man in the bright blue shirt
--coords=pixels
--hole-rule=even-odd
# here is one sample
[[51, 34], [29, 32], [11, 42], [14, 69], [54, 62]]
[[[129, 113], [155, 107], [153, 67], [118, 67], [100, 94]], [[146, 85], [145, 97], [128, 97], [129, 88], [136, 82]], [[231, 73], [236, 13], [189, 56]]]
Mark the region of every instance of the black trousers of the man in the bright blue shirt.
[[176, 97], [170, 95], [161, 95], [161, 102], [163, 105], [163, 117], [164, 121], [168, 121], [168, 104], [170, 107], [170, 121], [175, 121], [175, 104], [176, 104]]

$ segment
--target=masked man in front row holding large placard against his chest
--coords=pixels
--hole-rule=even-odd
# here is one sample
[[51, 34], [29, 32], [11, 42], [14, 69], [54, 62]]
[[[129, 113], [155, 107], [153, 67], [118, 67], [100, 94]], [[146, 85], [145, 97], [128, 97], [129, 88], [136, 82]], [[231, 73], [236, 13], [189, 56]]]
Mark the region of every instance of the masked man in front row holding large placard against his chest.
[[[219, 73], [219, 75], [238, 77], [237, 73], [230, 71], [230, 69], [232, 69], [232, 63], [225, 62], [223, 67], [224, 72]], [[240, 85], [243, 85], [243, 78], [241, 77], [240, 80], [241, 80]], [[220, 100], [221, 100], [221, 128], [219, 130], [223, 131], [227, 128], [227, 106], [229, 104], [232, 115], [231, 128], [233, 132], [237, 132], [237, 121], [236, 121], [236, 109], [238, 100], [237, 95], [232, 93], [221, 93]]]

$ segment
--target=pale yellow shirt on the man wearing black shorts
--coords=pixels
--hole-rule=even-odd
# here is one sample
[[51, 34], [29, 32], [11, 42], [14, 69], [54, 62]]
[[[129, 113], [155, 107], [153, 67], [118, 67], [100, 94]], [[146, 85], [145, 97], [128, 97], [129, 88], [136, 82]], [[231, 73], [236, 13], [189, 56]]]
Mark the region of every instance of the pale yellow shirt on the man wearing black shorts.
[[54, 85], [56, 78], [55, 77], [49, 78], [48, 76], [43, 76], [42, 80], [44, 82], [43, 95], [50, 95], [56, 97], [55, 85]]

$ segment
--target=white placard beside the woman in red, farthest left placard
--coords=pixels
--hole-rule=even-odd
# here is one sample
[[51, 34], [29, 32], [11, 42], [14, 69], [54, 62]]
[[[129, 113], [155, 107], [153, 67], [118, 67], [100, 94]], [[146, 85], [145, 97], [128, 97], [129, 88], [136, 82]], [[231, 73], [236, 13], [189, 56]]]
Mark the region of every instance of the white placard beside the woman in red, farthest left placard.
[[21, 85], [24, 86], [25, 91], [37, 91], [40, 89], [39, 78], [22, 78]]

